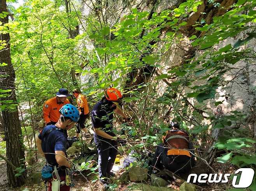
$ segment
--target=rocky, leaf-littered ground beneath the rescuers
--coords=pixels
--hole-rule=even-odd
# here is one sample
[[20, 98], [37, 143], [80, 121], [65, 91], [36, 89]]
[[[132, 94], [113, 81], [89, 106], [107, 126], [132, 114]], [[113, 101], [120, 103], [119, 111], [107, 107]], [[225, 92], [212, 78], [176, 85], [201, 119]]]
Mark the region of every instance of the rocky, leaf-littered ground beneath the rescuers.
[[[0, 180], [1, 191], [44, 191], [45, 186], [41, 184], [40, 172], [32, 172], [29, 176], [26, 186], [21, 188], [11, 189], [7, 186], [7, 174], [6, 165], [1, 162], [0, 167]], [[213, 167], [218, 173], [228, 173], [234, 170], [233, 166], [217, 165], [214, 163]], [[118, 166], [118, 165], [116, 165]], [[88, 171], [83, 173], [84, 176], [88, 174]], [[70, 191], [103, 191], [104, 187], [98, 180], [93, 180], [92, 175], [84, 178], [80, 174], [74, 176], [75, 186]], [[89, 181], [87, 181], [87, 180]], [[132, 167], [129, 170], [121, 169], [117, 172], [116, 177], [110, 179], [110, 191], [196, 191], [192, 184], [186, 182], [181, 183], [171, 179], [162, 179], [158, 174], [152, 174], [151, 177], [147, 175], [147, 169], [140, 167]], [[224, 191], [227, 188], [227, 184], [212, 184], [212, 185], [200, 185], [203, 191]]]

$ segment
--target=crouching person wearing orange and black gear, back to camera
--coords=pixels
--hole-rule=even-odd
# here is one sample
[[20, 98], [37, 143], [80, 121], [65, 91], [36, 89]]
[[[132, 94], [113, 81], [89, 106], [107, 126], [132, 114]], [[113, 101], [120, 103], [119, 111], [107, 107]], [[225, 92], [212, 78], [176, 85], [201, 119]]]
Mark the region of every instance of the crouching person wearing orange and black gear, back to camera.
[[156, 147], [150, 170], [152, 171], [156, 167], [157, 169], [168, 169], [179, 175], [186, 174], [195, 163], [195, 157], [190, 153], [193, 145], [189, 142], [189, 134], [173, 122], [169, 128], [171, 130], [163, 136], [163, 143]]

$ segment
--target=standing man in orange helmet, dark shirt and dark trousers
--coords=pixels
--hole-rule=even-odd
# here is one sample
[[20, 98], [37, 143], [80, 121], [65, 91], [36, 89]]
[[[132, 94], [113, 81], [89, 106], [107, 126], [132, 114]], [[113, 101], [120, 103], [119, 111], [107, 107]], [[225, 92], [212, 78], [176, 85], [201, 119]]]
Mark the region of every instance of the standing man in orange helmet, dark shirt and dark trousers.
[[114, 176], [110, 171], [116, 159], [118, 142], [121, 143], [123, 141], [122, 139], [117, 139], [116, 134], [113, 132], [113, 113], [116, 112], [127, 122], [126, 115], [118, 107], [122, 98], [123, 96], [118, 89], [109, 88], [105, 91], [105, 96], [93, 107], [91, 112], [94, 130], [93, 138], [99, 154], [99, 177], [105, 187], [108, 184], [105, 177]]

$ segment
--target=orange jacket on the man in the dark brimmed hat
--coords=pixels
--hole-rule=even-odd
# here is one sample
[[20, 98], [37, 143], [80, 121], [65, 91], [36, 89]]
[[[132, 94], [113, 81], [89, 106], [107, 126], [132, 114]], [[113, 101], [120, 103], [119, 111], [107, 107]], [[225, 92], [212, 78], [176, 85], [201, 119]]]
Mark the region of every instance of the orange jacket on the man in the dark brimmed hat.
[[57, 97], [51, 98], [44, 104], [44, 122], [47, 124], [49, 122], [57, 122], [60, 118], [60, 108], [63, 105], [70, 103], [68, 99], [64, 103], [57, 103]]

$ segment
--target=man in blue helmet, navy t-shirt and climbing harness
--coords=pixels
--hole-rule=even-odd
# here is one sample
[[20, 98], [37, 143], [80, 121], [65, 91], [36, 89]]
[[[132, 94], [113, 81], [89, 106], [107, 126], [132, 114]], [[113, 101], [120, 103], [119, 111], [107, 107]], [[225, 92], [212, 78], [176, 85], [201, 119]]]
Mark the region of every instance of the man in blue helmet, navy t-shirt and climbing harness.
[[[65, 183], [66, 168], [71, 165], [66, 159], [67, 130], [71, 129], [79, 120], [79, 111], [74, 105], [66, 104], [59, 110], [60, 117], [55, 125], [48, 125], [39, 133], [36, 139], [39, 152], [46, 158], [47, 165], [53, 167], [54, 179], [60, 179], [60, 191], [69, 191], [70, 186]], [[48, 191], [52, 191], [52, 180], [49, 181]]]

